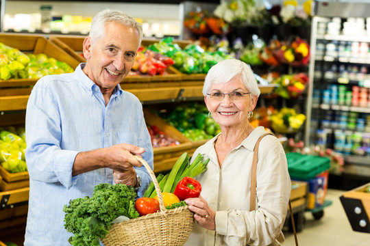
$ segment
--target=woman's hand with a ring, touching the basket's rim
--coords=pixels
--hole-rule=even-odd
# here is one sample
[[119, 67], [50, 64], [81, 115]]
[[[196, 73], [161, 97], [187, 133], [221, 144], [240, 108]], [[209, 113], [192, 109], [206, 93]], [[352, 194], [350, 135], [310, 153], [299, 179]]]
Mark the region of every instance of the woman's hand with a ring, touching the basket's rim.
[[189, 209], [195, 213], [194, 218], [198, 221], [199, 226], [208, 230], [216, 230], [216, 211], [208, 206], [208, 202], [202, 196], [197, 198], [188, 198], [185, 200]]

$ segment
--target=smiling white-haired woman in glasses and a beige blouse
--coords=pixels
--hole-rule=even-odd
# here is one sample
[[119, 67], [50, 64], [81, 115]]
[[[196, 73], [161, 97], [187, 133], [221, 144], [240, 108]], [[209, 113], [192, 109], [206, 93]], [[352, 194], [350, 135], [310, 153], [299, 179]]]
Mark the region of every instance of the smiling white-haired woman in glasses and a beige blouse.
[[203, 94], [221, 133], [193, 154], [210, 162], [197, 176], [201, 197], [186, 200], [197, 221], [186, 245], [284, 245], [291, 179], [284, 149], [273, 135], [260, 141], [256, 210], [250, 208], [254, 147], [266, 133], [249, 123], [260, 95], [253, 71], [243, 61], [220, 61], [208, 72]]

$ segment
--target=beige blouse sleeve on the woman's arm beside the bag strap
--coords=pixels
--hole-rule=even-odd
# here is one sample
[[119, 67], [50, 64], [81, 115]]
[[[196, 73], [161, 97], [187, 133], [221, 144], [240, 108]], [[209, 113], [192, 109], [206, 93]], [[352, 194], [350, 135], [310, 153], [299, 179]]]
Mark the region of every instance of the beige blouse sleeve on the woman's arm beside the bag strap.
[[223, 235], [227, 245], [270, 245], [281, 233], [291, 179], [285, 152], [275, 137], [267, 136], [261, 141], [256, 185], [256, 210], [216, 213], [217, 234]]

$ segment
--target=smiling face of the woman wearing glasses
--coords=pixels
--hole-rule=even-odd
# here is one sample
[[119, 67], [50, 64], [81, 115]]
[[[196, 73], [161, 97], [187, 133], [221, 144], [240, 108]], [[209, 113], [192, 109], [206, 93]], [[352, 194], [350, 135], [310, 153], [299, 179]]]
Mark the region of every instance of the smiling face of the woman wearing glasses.
[[[237, 92], [239, 95], [237, 99], [230, 98], [225, 95], [222, 100], [215, 100], [211, 96], [205, 96], [208, 111], [212, 113], [214, 121], [224, 127], [245, 127], [248, 122], [248, 112], [253, 111], [256, 107], [257, 96], [252, 97], [248, 93], [244, 83], [238, 77], [232, 79], [227, 83], [212, 83], [209, 94], [212, 93], [232, 93]], [[243, 95], [243, 96], [240, 96]]]

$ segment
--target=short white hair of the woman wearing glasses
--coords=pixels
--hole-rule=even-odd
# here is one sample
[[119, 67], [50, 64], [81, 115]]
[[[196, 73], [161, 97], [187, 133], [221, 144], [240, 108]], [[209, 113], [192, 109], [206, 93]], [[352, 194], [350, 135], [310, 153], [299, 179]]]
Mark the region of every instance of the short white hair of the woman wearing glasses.
[[251, 96], [260, 96], [260, 89], [254, 77], [254, 72], [245, 62], [238, 59], [226, 59], [219, 61], [208, 71], [203, 85], [203, 94], [210, 93], [212, 83], [227, 83], [235, 77], [240, 77]]

